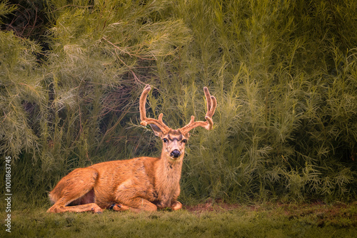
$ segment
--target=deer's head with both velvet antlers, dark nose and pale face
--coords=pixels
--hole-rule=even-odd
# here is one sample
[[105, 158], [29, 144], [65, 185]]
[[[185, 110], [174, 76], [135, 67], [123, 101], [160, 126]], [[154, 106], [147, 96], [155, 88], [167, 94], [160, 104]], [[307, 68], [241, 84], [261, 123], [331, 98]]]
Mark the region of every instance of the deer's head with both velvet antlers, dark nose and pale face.
[[146, 118], [146, 96], [151, 90], [149, 85], [146, 85], [143, 93], [141, 93], [140, 97], [140, 119], [141, 125], [151, 125], [152, 130], [156, 136], [159, 136], [163, 141], [163, 148], [161, 152], [161, 157], [166, 157], [169, 160], [180, 160], [185, 152], [185, 145], [188, 141], [189, 131], [193, 128], [201, 126], [206, 128], [206, 130], [211, 130], [213, 128], [213, 120], [212, 116], [214, 111], [216, 110], [217, 100], [214, 96], [212, 96], [208, 88], [204, 87], [203, 91], [206, 95], [207, 101], [207, 113], [206, 113], [206, 121], [196, 121], [193, 115], [191, 115], [190, 122], [185, 125], [183, 128], [174, 130], [169, 128], [162, 121], [163, 113], [159, 115], [159, 119], [154, 118]]

